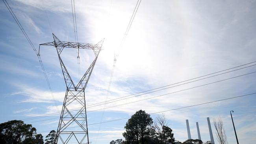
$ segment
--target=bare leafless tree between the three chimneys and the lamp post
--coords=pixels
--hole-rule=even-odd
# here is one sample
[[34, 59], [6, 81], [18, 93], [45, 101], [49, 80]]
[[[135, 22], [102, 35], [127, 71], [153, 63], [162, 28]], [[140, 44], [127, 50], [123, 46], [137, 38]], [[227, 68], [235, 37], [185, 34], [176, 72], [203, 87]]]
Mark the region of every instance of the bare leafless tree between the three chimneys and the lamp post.
[[213, 124], [216, 130], [217, 140], [220, 144], [227, 144], [227, 137], [226, 132], [223, 126], [223, 121], [221, 120], [221, 117], [217, 119], [213, 119]]

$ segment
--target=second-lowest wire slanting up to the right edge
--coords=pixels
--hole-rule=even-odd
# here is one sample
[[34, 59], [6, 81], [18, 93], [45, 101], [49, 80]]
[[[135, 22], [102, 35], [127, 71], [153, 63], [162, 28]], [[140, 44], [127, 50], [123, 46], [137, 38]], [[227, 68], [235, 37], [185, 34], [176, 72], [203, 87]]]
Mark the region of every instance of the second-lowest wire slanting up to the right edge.
[[[166, 95], [169, 95], [169, 94], [174, 94], [174, 93], [182, 92], [182, 91], [185, 91], [185, 90], [195, 89], [197, 87], [202, 87], [202, 86], [210, 85], [210, 84], [213, 84], [213, 83], [218, 83], [218, 82], [221, 82], [221, 81], [226, 81], [228, 79], [238, 78], [238, 77], [246, 76], [246, 75], [253, 74], [253, 73], [256, 73], [256, 72], [250, 72], [250, 73], [239, 75], [239, 76], [235, 76], [235, 77], [232, 77], [232, 78], [227, 78], [227, 79], [223, 79], [223, 80], [219, 80], [219, 81], [215, 81], [215, 82], [211, 82], [211, 83], [206, 83], [204, 85], [199, 85], [199, 86], [191, 87], [191, 88], [188, 88], [188, 89], [178, 90], [178, 91], [175, 91], [175, 92], [170, 92], [170, 93], [167, 93], [167, 94], [162, 94], [162, 95], [158, 95], [158, 96], [154, 96], [154, 97], [150, 97], [150, 98], [146, 98], [146, 99], [142, 99], [142, 100], [137, 100], [137, 101], [134, 101], [134, 102], [123, 103], [123, 104], [115, 105], [115, 106], [111, 106], [111, 107], [105, 107], [103, 109], [109, 109], [109, 108], [112, 108], [112, 107], [118, 107], [118, 106], [121, 106], [121, 105], [126, 105], [126, 104], [130, 104], [130, 103], [135, 103], [135, 102], [140, 102], [140, 101], [144, 101], [144, 100], [149, 100], [149, 99], [152, 99], [152, 98], [158, 98], [158, 97], [161, 97], [161, 96], [166, 96]], [[89, 107], [87, 107], [87, 108], [89, 108]], [[78, 108], [76, 108], [76, 109], [78, 109]], [[102, 110], [102, 109], [96, 109], [96, 110], [93, 110], [93, 111], [99, 111], [99, 110]], [[93, 112], [93, 111], [88, 111], [87, 113], [90, 113], [90, 112]], [[54, 114], [54, 115], [57, 115], [57, 114]], [[48, 116], [53, 116], [53, 115], [48, 115]], [[37, 116], [37, 118], [44, 118], [44, 117], [48, 117], [48, 116], [40, 116], [40, 117]], [[37, 119], [37, 118], [31, 118], [31, 119], [27, 118], [27, 119], [23, 119], [23, 120], [33, 120], [33, 119]]]

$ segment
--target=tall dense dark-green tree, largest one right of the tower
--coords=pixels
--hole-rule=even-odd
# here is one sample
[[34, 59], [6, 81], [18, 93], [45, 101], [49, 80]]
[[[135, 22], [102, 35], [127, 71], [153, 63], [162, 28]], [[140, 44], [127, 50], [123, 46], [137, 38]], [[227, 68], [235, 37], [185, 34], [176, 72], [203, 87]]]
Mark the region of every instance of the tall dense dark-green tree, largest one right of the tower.
[[126, 122], [126, 132], [123, 133], [129, 144], [145, 143], [145, 138], [150, 137], [153, 120], [145, 111], [139, 110]]

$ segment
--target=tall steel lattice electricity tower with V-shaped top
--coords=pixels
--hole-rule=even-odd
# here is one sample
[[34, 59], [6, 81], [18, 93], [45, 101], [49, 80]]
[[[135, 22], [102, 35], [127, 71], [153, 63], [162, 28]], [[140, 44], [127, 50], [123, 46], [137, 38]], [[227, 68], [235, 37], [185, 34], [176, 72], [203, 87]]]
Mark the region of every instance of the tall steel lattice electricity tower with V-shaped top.
[[[56, 48], [67, 86], [65, 99], [61, 110], [61, 116], [59, 118], [55, 144], [58, 142], [62, 144], [67, 144], [68, 142], [89, 144], [84, 90], [91, 76], [91, 72], [93, 71], [93, 67], [100, 53], [104, 39], [102, 39], [97, 44], [85, 44], [78, 42], [60, 41], [54, 34], [52, 35], [54, 38], [53, 42], [40, 45], [54, 46]], [[88, 70], [85, 72], [77, 85], [74, 85], [69, 72], [67, 71], [67, 68], [61, 60], [60, 55], [64, 48], [89, 49], [93, 50], [95, 54], [94, 61], [91, 63]], [[76, 108], [74, 109], [74, 107]]]

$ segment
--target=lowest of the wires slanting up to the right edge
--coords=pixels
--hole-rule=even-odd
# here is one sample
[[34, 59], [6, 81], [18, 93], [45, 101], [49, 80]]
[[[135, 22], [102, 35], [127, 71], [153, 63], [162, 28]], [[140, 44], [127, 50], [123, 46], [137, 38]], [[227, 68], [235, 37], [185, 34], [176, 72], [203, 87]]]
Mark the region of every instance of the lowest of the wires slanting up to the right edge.
[[[234, 99], [234, 98], [241, 98], [241, 97], [250, 96], [250, 95], [253, 95], [253, 94], [256, 94], [256, 92], [250, 93], [250, 94], [245, 94], [245, 95], [240, 95], [240, 96], [234, 96], [234, 97], [230, 97], [230, 98], [224, 98], [224, 99], [221, 99], [221, 100], [215, 100], [215, 101], [210, 101], [210, 102], [205, 102], [205, 103], [189, 105], [189, 106], [186, 106], [186, 107], [179, 107], [179, 108], [169, 109], [169, 110], [165, 110], [165, 111], [158, 111], [158, 112], [150, 113], [150, 114], [158, 114], [158, 113], [164, 113], [164, 112], [167, 112], [167, 111], [175, 111], [175, 110], [178, 110], [178, 109], [185, 109], [185, 108], [189, 108], [189, 107], [195, 107], [195, 106], [198, 106], [198, 105], [205, 105], [205, 104], [209, 104], [209, 103], [221, 102], [221, 101], [224, 101], [224, 100], [231, 100], [231, 99]], [[141, 115], [141, 116], [144, 116], [144, 115]], [[135, 117], [140, 117], [140, 116], [135, 116]], [[102, 123], [108, 123], [108, 122], [115, 122], [115, 121], [119, 121], [119, 120], [126, 120], [126, 119], [129, 119], [129, 118], [120, 118], [120, 119], [117, 119], [117, 120], [109, 120], [109, 121], [100, 122], [100, 123], [93, 123], [93, 124], [88, 124], [88, 126], [96, 125], [96, 124], [102, 124]], [[75, 128], [75, 127], [69, 127], [69, 128]], [[67, 128], [67, 129], [69, 129], [69, 128]], [[43, 133], [43, 132], [48, 132], [48, 131], [40, 131], [38, 133]]]

